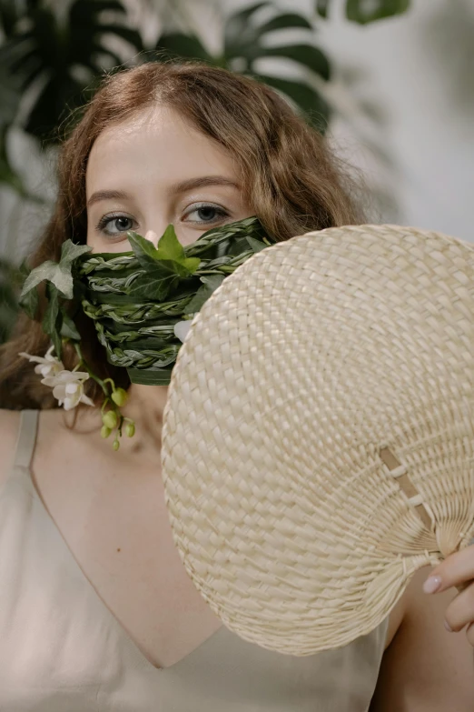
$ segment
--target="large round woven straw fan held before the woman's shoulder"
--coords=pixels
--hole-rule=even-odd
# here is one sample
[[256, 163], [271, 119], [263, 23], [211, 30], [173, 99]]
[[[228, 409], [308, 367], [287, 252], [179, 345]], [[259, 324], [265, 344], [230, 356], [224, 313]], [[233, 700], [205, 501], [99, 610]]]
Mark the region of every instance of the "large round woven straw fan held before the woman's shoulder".
[[377, 627], [474, 536], [474, 245], [399, 226], [268, 247], [193, 319], [163, 480], [194, 585], [305, 656]]

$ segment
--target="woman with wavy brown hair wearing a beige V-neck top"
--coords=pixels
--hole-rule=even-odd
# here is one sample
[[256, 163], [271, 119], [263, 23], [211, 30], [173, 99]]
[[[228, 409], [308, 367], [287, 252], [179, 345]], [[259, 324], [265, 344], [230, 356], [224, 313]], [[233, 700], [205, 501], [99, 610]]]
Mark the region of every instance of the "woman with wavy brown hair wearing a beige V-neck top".
[[[109, 78], [65, 142], [31, 264], [57, 261], [66, 239], [123, 252], [128, 230], [156, 245], [173, 223], [189, 245], [252, 215], [277, 239], [361, 222], [321, 136], [270, 89], [204, 65], [142, 65]], [[49, 340], [20, 320], [2, 365], [3, 401], [24, 413], [1, 415], [1, 709], [363, 712], [375, 690], [384, 712], [471, 710], [472, 629], [442, 625], [474, 620], [474, 586], [452, 602], [447, 590], [474, 577], [470, 547], [432, 572], [436, 596], [420, 572], [390, 621], [351, 646], [290, 657], [242, 641], [173, 546], [157, 477], [166, 386], [130, 386], [87, 319], [77, 326], [94, 372], [128, 389], [136, 435], [116, 453], [99, 408], [54, 407], [18, 356], [44, 356]]]

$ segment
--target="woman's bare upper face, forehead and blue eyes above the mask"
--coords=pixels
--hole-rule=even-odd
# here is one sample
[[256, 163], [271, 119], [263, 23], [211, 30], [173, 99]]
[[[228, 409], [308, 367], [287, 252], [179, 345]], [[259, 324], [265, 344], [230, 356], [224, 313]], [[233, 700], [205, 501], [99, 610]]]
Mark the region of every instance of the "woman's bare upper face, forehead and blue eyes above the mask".
[[253, 215], [232, 156], [173, 109], [156, 106], [104, 130], [86, 173], [87, 245], [130, 250], [134, 230], [156, 245], [170, 223], [183, 245]]

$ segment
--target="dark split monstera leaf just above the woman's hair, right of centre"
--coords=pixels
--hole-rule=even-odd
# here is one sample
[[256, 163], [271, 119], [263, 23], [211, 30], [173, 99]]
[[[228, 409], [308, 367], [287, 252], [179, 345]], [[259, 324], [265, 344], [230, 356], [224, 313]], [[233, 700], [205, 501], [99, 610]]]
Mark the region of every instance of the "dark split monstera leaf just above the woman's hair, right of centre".
[[[321, 94], [302, 79], [281, 79], [277, 75], [263, 75], [258, 70], [257, 62], [267, 57], [291, 60], [305, 71], [309, 69], [311, 73], [327, 81], [331, 75], [328, 58], [315, 45], [315, 31], [306, 17], [287, 12], [259, 21], [259, 11], [265, 7], [272, 8], [272, 4], [257, 3], [228, 18], [222, 55], [211, 55], [196, 35], [170, 33], [162, 35], [155, 48], [156, 55], [149, 58], [165, 61], [170, 57], [198, 59], [239, 71], [243, 75], [251, 75], [289, 97], [311, 123], [323, 132], [329, 121], [330, 107]], [[303, 31], [305, 40], [296, 44], [275, 44], [274, 33], [288, 28]]]

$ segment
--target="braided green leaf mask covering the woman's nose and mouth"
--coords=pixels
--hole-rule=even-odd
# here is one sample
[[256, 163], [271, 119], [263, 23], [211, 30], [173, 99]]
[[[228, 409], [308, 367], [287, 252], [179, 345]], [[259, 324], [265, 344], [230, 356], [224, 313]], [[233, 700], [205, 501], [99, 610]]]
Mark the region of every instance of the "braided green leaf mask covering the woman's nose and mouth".
[[256, 217], [208, 230], [189, 246], [181, 245], [173, 226], [157, 248], [136, 233], [128, 238], [132, 252], [78, 256], [74, 285], [109, 363], [126, 368], [133, 383], [166, 386], [183, 322], [226, 276], [274, 240]]

